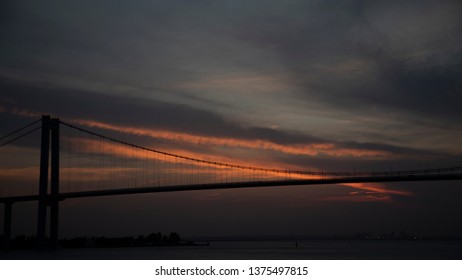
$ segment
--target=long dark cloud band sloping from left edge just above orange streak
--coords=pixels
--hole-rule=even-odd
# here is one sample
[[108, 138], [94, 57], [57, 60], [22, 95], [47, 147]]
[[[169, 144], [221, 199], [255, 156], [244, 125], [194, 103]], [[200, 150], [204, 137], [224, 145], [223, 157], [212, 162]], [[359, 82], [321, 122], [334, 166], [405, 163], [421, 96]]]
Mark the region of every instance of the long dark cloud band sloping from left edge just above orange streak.
[[30, 110], [63, 119], [91, 119], [134, 127], [236, 137], [278, 143], [316, 143], [322, 140], [268, 128], [245, 128], [213, 112], [186, 105], [112, 96], [85, 90], [1, 80], [5, 110]]

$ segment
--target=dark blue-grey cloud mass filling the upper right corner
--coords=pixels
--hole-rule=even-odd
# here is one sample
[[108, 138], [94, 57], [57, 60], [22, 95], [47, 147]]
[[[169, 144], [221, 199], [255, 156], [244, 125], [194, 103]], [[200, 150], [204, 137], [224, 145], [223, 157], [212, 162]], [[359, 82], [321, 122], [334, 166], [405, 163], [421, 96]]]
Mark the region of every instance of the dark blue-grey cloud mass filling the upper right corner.
[[298, 9], [274, 21], [257, 17], [239, 36], [278, 52], [307, 102], [363, 115], [462, 118], [459, 2], [314, 1]]

